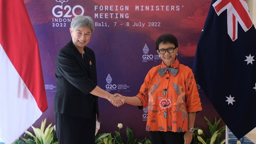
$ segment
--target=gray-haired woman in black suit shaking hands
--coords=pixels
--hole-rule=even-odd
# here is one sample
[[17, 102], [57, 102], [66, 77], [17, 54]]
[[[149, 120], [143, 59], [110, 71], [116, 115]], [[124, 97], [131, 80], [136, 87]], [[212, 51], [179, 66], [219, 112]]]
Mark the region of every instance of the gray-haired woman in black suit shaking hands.
[[95, 54], [86, 44], [94, 31], [89, 16], [76, 16], [70, 26], [72, 40], [56, 59], [54, 112], [59, 144], [94, 144], [98, 96], [122, 105], [119, 97], [97, 86]]

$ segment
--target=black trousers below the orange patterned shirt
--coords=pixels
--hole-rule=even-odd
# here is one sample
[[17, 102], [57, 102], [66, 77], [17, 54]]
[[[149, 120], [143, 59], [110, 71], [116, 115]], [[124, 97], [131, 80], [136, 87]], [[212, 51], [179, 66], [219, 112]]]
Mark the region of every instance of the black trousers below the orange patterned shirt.
[[152, 144], [184, 144], [184, 132], [150, 131]]

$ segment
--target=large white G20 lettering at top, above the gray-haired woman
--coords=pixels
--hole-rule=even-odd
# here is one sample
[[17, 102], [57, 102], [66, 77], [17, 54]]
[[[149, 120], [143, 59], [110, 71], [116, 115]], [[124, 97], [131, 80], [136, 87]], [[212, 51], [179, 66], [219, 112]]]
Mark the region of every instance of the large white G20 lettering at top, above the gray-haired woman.
[[[76, 14], [75, 13], [76, 9], [80, 9], [77, 11], [81, 11], [81, 13]], [[63, 13], [64, 13], [64, 16], [63, 16], [64, 18], [70, 18], [72, 16], [72, 15], [69, 15], [71, 11], [73, 16], [84, 15], [84, 8], [80, 5], [76, 5], [73, 8], [71, 8], [71, 6], [69, 5], [64, 6], [64, 8], [63, 8], [63, 5], [56, 5], [52, 8], [52, 14], [57, 18], [62, 17]]]

